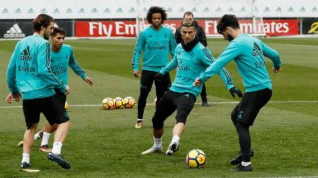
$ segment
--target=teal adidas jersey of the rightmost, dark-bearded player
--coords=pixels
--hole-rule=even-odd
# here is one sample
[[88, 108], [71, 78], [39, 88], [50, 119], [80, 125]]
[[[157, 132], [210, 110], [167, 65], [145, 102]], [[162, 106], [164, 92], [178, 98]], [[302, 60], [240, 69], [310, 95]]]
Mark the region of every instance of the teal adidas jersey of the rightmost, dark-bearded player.
[[240, 34], [230, 42], [217, 60], [200, 75], [200, 80], [205, 82], [231, 60], [234, 60], [238, 66], [239, 74], [242, 76], [246, 92], [266, 88], [272, 89], [264, 56], [272, 60], [275, 68], [281, 66], [281, 59], [277, 51], [250, 35]]

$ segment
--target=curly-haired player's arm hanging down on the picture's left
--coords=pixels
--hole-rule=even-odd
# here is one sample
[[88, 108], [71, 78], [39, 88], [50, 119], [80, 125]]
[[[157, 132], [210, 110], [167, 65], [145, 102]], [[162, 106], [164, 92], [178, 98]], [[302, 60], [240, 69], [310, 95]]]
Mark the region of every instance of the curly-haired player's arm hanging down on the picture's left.
[[139, 37], [137, 38], [133, 57], [131, 60], [131, 65], [133, 69], [133, 74], [135, 77], [140, 77], [139, 74], [139, 59], [143, 50], [143, 47], [145, 45], [145, 38], [143, 35], [143, 32], [140, 33]]

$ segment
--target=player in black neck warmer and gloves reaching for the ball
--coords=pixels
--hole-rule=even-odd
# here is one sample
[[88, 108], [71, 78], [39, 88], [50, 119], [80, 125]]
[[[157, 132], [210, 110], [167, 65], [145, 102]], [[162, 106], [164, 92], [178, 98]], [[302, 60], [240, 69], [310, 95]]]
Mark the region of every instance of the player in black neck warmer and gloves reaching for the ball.
[[[185, 129], [187, 116], [191, 112], [196, 97], [200, 94], [202, 88], [202, 85], [198, 88], [194, 87], [192, 85], [193, 81], [214, 62], [214, 57], [210, 50], [195, 38], [196, 29], [193, 21], [187, 20], [183, 22], [181, 33], [183, 42], [177, 45], [174, 58], [155, 76], [157, 81], [161, 81], [165, 74], [177, 68], [175, 80], [171, 88], [165, 92], [159, 101], [158, 108], [152, 119], [154, 146], [142, 152], [142, 154], [162, 151], [163, 123], [175, 110], [177, 110], [176, 124], [174, 125], [173, 137], [166, 154], [172, 155], [179, 149], [179, 140]], [[219, 75], [226, 88], [230, 89], [231, 94], [234, 94], [234, 92], [238, 95], [241, 94], [239, 89], [233, 86], [233, 81], [228, 71], [222, 69]]]

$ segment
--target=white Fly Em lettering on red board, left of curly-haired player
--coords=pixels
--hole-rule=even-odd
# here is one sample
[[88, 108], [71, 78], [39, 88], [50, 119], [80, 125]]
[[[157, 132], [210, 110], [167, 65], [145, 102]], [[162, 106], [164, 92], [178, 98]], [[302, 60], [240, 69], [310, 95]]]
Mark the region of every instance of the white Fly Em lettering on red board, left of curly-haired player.
[[94, 36], [127, 36], [136, 34], [136, 24], [117, 22], [89, 22], [89, 35]]

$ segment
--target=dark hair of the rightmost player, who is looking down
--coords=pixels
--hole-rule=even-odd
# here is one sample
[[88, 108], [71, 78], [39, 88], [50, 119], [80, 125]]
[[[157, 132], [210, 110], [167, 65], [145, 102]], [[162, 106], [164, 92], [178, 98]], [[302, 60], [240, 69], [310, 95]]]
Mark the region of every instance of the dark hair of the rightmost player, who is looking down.
[[221, 20], [218, 22], [217, 29], [220, 34], [224, 32], [227, 27], [239, 29], [239, 20], [235, 15], [225, 14], [222, 16]]

